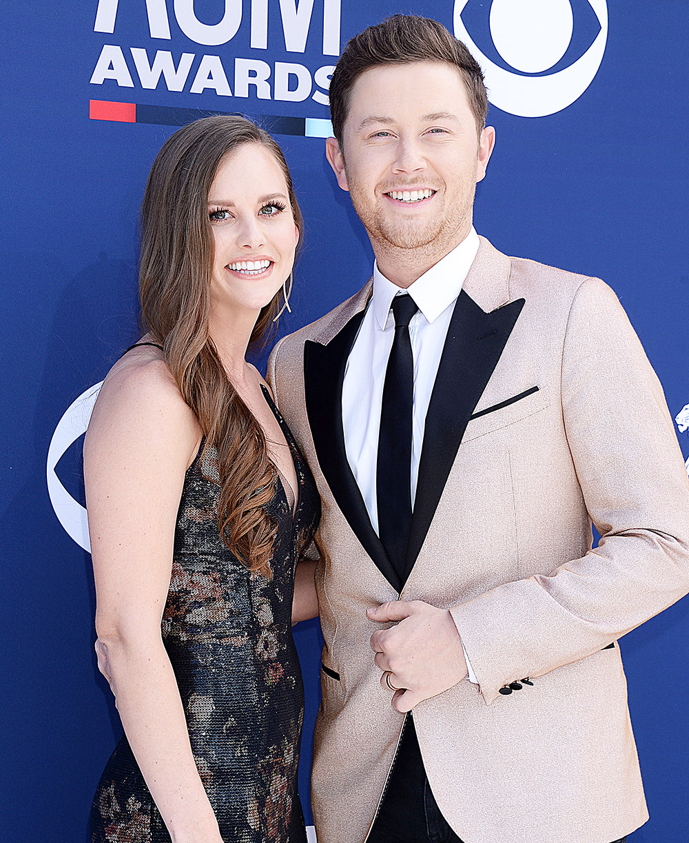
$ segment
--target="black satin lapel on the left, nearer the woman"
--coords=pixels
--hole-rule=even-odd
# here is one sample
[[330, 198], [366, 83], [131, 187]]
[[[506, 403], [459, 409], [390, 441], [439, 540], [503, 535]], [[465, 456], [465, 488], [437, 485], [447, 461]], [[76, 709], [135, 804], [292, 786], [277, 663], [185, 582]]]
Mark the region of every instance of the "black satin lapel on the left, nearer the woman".
[[344, 518], [366, 553], [376, 563], [383, 577], [397, 591], [401, 588], [399, 577], [371, 527], [366, 504], [356, 485], [347, 454], [344, 450], [342, 427], [342, 383], [347, 357], [354, 344], [356, 332], [364, 312], [355, 314], [339, 334], [322, 346], [307, 340], [304, 343], [304, 392], [308, 422], [318, 464], [328, 481], [330, 491]]

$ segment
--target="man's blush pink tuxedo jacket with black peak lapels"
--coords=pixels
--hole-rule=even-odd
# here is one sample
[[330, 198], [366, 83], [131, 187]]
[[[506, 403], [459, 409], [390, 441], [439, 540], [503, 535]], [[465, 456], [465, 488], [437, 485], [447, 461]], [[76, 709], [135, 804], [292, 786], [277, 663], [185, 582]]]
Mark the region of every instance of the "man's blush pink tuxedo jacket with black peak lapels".
[[362, 843], [382, 799], [403, 715], [366, 609], [400, 592], [450, 609], [479, 683], [414, 709], [457, 835], [616, 840], [648, 814], [610, 645], [689, 591], [689, 481], [658, 379], [603, 282], [481, 239], [435, 379], [400, 583], [344, 454], [344, 362], [370, 295], [371, 282], [269, 363], [323, 498], [318, 843]]

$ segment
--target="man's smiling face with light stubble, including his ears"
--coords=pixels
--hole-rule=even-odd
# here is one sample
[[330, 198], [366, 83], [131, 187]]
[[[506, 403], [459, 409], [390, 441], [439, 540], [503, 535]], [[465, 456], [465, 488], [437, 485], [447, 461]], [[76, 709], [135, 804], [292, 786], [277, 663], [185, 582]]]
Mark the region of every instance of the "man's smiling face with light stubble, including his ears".
[[493, 144], [492, 128], [478, 136], [457, 68], [413, 62], [361, 74], [343, 148], [329, 138], [327, 154], [374, 249], [446, 253], [471, 228]]

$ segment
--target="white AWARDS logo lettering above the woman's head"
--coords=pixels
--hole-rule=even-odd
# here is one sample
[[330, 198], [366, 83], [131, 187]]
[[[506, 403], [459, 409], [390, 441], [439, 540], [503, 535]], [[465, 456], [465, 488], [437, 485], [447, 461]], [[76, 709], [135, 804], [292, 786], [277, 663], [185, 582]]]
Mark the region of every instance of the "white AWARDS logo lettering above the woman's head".
[[[144, 13], [148, 25], [145, 30], [140, 28], [139, 38], [148, 49], [104, 44], [90, 83], [105, 84], [106, 90], [113, 89], [113, 83], [124, 89], [164, 86], [168, 92], [207, 91], [235, 99], [302, 102], [310, 98], [327, 106], [334, 65], [332, 59], [327, 64], [322, 62], [326, 56], [339, 56], [341, 3], [318, 0], [314, 14], [314, 0], [280, 0], [279, 6], [276, 0], [225, 0], [222, 18], [205, 23], [197, 16], [194, 0], [146, 0], [145, 8], [143, 0], [122, 3], [122, 8], [119, 0], [98, 0], [94, 33], [112, 36], [109, 41], [120, 40], [120, 32], [130, 32], [127, 27], [133, 22], [139, 21], [141, 26]], [[271, 9], [280, 14], [281, 38], [275, 37]], [[231, 43], [236, 37], [243, 44], [242, 50], [247, 49], [248, 39], [250, 56], [236, 55], [237, 48]], [[175, 59], [172, 51], [157, 49], [166, 46], [165, 41], [173, 42], [168, 46], [191, 43], [211, 47], [212, 55], [184, 51]], [[272, 61], [283, 46], [286, 53], [307, 53], [307, 43], [306, 64]], [[264, 57], [271, 61], [264, 61]], [[314, 62], [321, 66], [312, 67]]]

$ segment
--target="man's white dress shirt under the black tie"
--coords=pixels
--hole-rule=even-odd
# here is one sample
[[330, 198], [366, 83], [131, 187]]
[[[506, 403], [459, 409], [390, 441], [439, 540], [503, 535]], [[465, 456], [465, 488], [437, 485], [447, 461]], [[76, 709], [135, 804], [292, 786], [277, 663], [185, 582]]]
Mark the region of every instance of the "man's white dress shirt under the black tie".
[[[406, 290], [388, 281], [378, 270], [377, 264], [373, 265], [373, 294], [344, 369], [342, 423], [347, 461], [376, 533], [378, 432], [381, 426], [382, 388], [387, 358], [390, 356], [395, 335], [395, 319], [391, 310], [393, 298], [409, 293], [419, 307], [409, 323], [409, 338], [414, 355], [411, 465], [411, 496], [414, 507], [430, 395], [441, 362], [452, 310], [477, 251], [478, 234], [472, 228], [462, 243], [441, 258], [435, 266], [431, 266], [430, 270], [417, 278]], [[466, 651], [464, 655], [466, 658]], [[468, 662], [467, 668], [470, 681], [475, 682], [473, 670]]]

